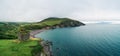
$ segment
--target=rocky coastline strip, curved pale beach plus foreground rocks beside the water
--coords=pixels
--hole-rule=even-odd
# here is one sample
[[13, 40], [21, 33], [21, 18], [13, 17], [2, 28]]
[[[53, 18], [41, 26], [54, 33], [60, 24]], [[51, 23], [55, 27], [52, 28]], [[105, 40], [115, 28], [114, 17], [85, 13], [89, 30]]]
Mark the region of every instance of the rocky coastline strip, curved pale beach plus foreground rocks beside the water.
[[[69, 26], [69, 27], [73, 27], [73, 26]], [[36, 34], [39, 34], [39, 33], [46, 31], [46, 30], [57, 29], [57, 28], [67, 28], [67, 27], [60, 27], [59, 25], [55, 25], [52, 27], [45, 27], [43, 29], [31, 30], [30, 37], [36, 38], [35, 37]], [[42, 47], [43, 47], [43, 52], [41, 53], [41, 56], [53, 56], [52, 48], [51, 48], [52, 42], [50, 42], [48, 40], [43, 40], [43, 41], [38, 41], [38, 43], [40, 45], [42, 45]]]

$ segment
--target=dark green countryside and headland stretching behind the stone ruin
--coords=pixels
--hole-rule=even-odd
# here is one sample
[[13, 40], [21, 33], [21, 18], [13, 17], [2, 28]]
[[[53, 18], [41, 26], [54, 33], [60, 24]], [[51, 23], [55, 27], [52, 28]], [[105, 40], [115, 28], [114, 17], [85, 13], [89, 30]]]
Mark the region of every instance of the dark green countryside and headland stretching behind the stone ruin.
[[16, 39], [18, 37], [18, 32], [26, 33], [28, 30], [77, 27], [82, 25], [85, 24], [69, 18], [57, 17], [49, 17], [34, 23], [0, 22], [0, 39]]

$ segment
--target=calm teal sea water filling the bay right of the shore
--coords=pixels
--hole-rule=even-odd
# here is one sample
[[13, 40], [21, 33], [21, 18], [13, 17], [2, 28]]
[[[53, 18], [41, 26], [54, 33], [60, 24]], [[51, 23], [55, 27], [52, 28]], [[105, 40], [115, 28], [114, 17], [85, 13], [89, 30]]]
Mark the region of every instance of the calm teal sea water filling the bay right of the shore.
[[36, 37], [53, 42], [54, 56], [120, 56], [120, 25], [117, 24], [47, 30]]

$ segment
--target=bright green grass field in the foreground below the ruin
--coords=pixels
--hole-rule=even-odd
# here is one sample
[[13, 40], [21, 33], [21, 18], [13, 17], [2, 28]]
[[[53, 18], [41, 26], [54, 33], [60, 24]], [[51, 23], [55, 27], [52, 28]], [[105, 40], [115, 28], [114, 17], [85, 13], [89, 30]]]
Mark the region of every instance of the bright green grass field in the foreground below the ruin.
[[33, 48], [36, 46], [37, 40], [29, 40], [19, 42], [16, 40], [0, 40], [0, 56], [31, 56]]

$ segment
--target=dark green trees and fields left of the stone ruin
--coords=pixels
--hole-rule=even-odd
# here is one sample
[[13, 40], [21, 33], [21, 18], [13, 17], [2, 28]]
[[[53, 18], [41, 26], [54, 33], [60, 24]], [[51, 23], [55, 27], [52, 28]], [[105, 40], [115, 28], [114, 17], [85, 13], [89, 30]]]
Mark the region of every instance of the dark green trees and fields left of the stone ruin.
[[0, 23], [0, 39], [15, 39], [17, 38], [17, 23], [1, 22]]

